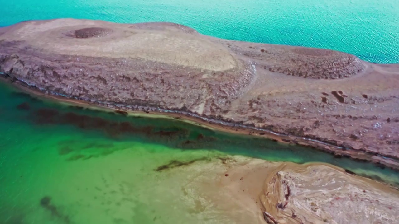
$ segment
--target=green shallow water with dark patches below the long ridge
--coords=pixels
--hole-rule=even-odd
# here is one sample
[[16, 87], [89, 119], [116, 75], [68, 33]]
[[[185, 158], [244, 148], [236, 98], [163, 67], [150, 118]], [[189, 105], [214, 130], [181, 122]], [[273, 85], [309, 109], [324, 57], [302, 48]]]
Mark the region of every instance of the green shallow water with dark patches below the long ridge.
[[43, 102], [4, 84], [0, 98], [2, 224], [203, 223], [183, 206], [182, 186], [172, 184], [187, 175], [156, 171], [174, 160], [320, 161], [399, 186], [391, 169], [315, 149]]

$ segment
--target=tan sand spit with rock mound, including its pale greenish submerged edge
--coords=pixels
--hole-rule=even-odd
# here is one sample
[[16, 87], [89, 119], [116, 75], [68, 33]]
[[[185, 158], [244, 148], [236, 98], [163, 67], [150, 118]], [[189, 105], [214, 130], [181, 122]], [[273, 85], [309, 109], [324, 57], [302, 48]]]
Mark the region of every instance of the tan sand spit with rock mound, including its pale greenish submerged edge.
[[246, 157], [195, 161], [162, 170], [192, 173], [185, 203], [201, 223], [395, 223], [399, 191], [328, 164]]

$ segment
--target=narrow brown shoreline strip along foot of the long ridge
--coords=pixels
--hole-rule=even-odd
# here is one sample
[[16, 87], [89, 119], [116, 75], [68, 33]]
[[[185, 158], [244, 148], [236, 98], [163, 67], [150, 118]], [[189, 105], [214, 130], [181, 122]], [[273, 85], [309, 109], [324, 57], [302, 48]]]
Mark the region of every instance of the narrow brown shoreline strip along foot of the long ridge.
[[[279, 143], [300, 145], [305, 147], [311, 147], [326, 153], [331, 153], [336, 157], [347, 157], [355, 161], [373, 163], [376, 167], [381, 169], [389, 167], [394, 171], [399, 171], [399, 161], [395, 159], [385, 157], [383, 155], [375, 155], [367, 152], [359, 152], [350, 148], [340, 147], [338, 145], [332, 145], [323, 141], [312, 140], [304, 137], [289, 136], [285, 134], [275, 133], [270, 130], [255, 128], [251, 126], [245, 126], [243, 124], [234, 124], [226, 121], [215, 120], [212, 118], [205, 118], [192, 114], [189, 112], [175, 111], [175, 110], [163, 110], [161, 108], [148, 108], [148, 107], [136, 107], [136, 110], [129, 110], [126, 106], [120, 106], [121, 104], [114, 104], [114, 108], [101, 105], [100, 102], [88, 102], [83, 99], [76, 99], [70, 96], [60, 96], [57, 93], [49, 93], [40, 90], [36, 86], [30, 86], [23, 81], [18, 79], [13, 80], [12, 77], [5, 73], [0, 73], [0, 81], [11, 84], [18, 90], [38, 96], [47, 100], [51, 100], [55, 103], [65, 104], [68, 106], [83, 106], [90, 110], [100, 110], [105, 112], [116, 112], [119, 114], [125, 114], [128, 116], [144, 116], [149, 118], [166, 118], [166, 119], [177, 119], [182, 122], [201, 126], [210, 130], [217, 130], [229, 134], [239, 134], [247, 136], [255, 136], [259, 138], [266, 138]], [[162, 111], [163, 110], [163, 111]], [[382, 157], [382, 158], [381, 158]], [[390, 163], [388, 163], [390, 162]]]

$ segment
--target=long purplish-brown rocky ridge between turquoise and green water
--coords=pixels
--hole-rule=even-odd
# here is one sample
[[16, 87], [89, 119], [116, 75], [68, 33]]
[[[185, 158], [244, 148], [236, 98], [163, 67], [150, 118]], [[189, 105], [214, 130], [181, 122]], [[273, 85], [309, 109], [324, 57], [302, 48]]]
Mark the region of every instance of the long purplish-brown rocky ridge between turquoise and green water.
[[0, 71], [59, 99], [170, 113], [399, 168], [398, 65], [170, 23], [61, 19], [1, 29]]

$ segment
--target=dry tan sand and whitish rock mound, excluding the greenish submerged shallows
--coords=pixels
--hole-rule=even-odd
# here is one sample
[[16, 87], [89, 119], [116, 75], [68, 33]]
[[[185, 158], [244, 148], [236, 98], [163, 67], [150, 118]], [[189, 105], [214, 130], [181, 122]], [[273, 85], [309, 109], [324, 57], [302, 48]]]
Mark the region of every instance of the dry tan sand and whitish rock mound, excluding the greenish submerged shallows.
[[393, 211], [399, 202], [397, 190], [338, 167], [252, 160], [226, 173], [222, 183], [235, 191], [235, 197], [252, 197], [260, 204], [263, 216], [258, 219], [267, 223], [383, 223], [397, 217]]

